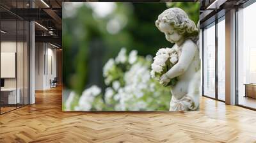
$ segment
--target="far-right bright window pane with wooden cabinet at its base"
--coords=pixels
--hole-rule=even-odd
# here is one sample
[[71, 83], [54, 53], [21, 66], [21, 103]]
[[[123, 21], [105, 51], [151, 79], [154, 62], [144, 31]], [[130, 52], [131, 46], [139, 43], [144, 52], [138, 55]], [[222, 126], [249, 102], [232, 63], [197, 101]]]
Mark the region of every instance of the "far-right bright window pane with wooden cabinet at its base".
[[237, 11], [237, 100], [256, 109], [256, 3]]

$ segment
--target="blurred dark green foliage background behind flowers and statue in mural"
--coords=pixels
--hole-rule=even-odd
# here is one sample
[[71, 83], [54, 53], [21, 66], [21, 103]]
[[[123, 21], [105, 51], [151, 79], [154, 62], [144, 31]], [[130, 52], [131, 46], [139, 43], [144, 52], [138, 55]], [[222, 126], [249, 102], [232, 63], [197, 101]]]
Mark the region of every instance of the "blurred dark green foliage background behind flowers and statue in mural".
[[[172, 43], [165, 40], [164, 34], [155, 26], [158, 15], [166, 8], [182, 8], [195, 24], [199, 19], [199, 3], [116, 3], [115, 10], [101, 18], [95, 17], [89, 6], [79, 4], [81, 6], [74, 6], [69, 11], [63, 8], [62, 36], [63, 84], [77, 94], [81, 94], [90, 84], [89, 65], [93, 58], [97, 58], [95, 56], [99, 56], [99, 52], [102, 52], [99, 59], [102, 64], [93, 63], [93, 66], [102, 69], [103, 64], [110, 57], [115, 57], [122, 47], [128, 51], [136, 49], [140, 56], [154, 56], [158, 49], [172, 47]], [[110, 34], [106, 27], [116, 17], [126, 20], [126, 24], [118, 33]], [[92, 54], [91, 50], [97, 49], [97, 46], [96, 54]]]

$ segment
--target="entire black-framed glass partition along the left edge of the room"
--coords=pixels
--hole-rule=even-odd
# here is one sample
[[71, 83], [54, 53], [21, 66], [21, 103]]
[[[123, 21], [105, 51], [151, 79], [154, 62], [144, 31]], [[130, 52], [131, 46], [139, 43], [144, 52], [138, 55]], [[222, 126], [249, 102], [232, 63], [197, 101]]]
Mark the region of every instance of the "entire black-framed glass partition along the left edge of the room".
[[[12, 1], [11, 7], [28, 7], [24, 2]], [[29, 22], [0, 8], [0, 30], [0, 114], [3, 114], [29, 104]]]

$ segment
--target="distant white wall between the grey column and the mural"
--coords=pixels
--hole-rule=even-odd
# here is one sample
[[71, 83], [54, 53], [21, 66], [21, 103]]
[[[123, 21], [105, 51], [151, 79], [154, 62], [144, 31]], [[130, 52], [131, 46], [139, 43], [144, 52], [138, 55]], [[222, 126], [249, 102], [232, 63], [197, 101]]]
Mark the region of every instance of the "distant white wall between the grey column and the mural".
[[49, 43], [36, 43], [35, 68], [35, 89], [51, 88], [50, 80], [56, 77], [56, 49]]

